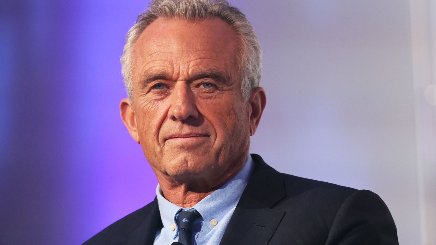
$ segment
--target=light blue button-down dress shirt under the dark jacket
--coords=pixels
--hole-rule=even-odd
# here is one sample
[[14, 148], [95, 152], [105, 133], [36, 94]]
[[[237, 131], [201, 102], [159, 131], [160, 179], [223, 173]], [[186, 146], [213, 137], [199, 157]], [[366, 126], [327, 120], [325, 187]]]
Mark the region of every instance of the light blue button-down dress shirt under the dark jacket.
[[[230, 217], [235, 211], [242, 191], [250, 178], [254, 164], [250, 154], [244, 167], [232, 179], [194, 205], [201, 214], [194, 222], [194, 245], [218, 245], [227, 228]], [[191, 208], [181, 208], [162, 195], [160, 186], [156, 188], [160, 218], [164, 227], [156, 232], [154, 245], [171, 245], [178, 240], [178, 229], [175, 216], [178, 211], [189, 211]]]

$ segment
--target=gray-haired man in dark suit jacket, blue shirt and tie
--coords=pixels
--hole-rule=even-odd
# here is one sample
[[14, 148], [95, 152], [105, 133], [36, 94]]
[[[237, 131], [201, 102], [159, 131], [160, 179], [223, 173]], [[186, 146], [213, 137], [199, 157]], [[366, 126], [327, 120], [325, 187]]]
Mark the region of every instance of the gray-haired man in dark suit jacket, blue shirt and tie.
[[281, 174], [249, 155], [266, 96], [237, 8], [154, 0], [129, 30], [121, 117], [159, 185], [85, 245], [398, 244], [371, 191]]

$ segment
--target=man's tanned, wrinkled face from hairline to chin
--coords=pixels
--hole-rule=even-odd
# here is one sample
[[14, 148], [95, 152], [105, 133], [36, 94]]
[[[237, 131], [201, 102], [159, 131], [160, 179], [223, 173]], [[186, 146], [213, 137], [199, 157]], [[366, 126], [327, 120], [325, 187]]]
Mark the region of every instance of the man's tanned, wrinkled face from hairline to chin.
[[129, 130], [158, 178], [221, 178], [243, 164], [254, 131], [241, 94], [237, 40], [218, 18], [160, 18], [136, 41], [136, 132]]

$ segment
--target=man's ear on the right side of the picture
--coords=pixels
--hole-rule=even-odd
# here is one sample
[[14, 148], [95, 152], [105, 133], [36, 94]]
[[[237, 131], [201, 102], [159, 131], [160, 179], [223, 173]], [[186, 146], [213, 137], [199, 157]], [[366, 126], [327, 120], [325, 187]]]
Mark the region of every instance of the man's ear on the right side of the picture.
[[262, 117], [262, 112], [266, 105], [266, 95], [263, 88], [253, 88], [248, 102], [251, 107], [250, 136], [253, 136], [253, 134], [256, 132], [257, 126], [259, 125], [260, 117]]

